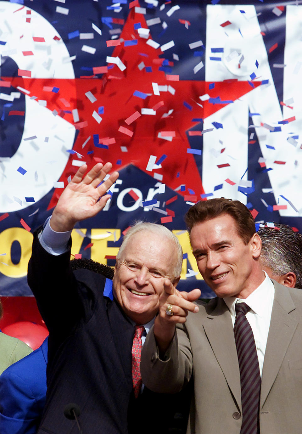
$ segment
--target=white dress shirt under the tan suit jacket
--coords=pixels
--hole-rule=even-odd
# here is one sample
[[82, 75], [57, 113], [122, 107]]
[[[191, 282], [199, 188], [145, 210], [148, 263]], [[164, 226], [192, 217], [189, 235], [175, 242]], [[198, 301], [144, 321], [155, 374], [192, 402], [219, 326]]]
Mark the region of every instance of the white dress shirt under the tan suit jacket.
[[[265, 273], [265, 271], [263, 271]], [[255, 339], [256, 350], [259, 361], [260, 376], [262, 376], [263, 361], [266, 349], [269, 324], [272, 316], [272, 303], [275, 296], [275, 287], [269, 276], [265, 273], [265, 279], [246, 299], [237, 297], [224, 297], [227, 307], [230, 310], [233, 326], [236, 319], [236, 302], [245, 302], [251, 310], [247, 312], [248, 320]]]

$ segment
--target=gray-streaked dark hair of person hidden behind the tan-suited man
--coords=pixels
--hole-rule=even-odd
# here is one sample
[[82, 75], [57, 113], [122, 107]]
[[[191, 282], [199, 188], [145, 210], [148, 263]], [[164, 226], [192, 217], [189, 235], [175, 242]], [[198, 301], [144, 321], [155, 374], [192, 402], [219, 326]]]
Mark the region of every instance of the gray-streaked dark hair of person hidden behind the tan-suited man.
[[296, 288], [302, 289], [302, 235], [286, 224], [276, 223], [273, 227], [260, 227], [258, 235], [262, 241], [260, 260], [276, 276], [292, 271], [297, 277]]

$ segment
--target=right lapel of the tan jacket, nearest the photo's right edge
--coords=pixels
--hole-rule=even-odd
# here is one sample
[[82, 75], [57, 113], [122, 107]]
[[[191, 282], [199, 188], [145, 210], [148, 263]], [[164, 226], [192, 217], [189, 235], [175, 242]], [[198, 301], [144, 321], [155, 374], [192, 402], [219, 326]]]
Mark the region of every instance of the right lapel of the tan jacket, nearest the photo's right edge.
[[263, 362], [260, 408], [263, 407], [272, 388], [298, 325], [298, 322], [290, 316], [290, 312], [295, 310], [295, 305], [288, 289], [285, 286], [279, 285], [279, 283], [273, 283], [275, 286], [275, 298]]

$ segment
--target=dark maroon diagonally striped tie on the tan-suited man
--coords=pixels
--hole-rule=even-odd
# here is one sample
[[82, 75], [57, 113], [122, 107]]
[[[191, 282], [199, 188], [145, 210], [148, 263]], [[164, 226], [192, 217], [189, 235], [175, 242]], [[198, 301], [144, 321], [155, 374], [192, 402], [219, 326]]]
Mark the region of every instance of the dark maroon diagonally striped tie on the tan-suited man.
[[240, 434], [259, 434], [259, 401], [261, 378], [255, 339], [246, 319], [246, 303], [236, 303], [234, 336], [241, 385], [242, 425]]

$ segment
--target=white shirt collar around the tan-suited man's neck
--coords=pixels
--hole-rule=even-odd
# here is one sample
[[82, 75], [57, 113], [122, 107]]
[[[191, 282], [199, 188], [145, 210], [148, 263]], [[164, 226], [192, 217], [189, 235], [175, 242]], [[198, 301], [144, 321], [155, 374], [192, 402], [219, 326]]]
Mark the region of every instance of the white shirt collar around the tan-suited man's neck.
[[251, 293], [246, 299], [239, 299], [238, 297], [224, 297], [231, 315], [236, 316], [235, 304], [237, 300], [244, 301], [257, 315], [263, 317], [267, 312], [272, 310], [272, 302], [275, 295], [275, 287], [269, 279], [265, 271], [265, 279], [262, 283]]

